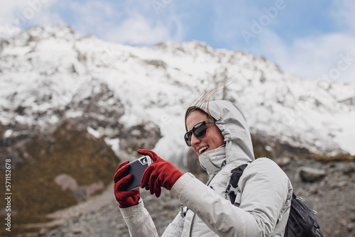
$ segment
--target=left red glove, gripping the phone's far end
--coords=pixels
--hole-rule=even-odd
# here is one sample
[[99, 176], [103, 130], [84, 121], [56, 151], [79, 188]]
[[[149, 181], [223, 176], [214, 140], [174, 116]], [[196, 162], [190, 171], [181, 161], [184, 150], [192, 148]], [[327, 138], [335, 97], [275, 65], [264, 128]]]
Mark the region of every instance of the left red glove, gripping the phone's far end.
[[124, 191], [126, 184], [132, 179], [131, 174], [127, 175], [128, 169], [129, 161], [126, 160], [117, 167], [116, 174], [114, 175], [114, 196], [121, 208], [138, 204], [138, 200], [141, 197], [139, 189]]

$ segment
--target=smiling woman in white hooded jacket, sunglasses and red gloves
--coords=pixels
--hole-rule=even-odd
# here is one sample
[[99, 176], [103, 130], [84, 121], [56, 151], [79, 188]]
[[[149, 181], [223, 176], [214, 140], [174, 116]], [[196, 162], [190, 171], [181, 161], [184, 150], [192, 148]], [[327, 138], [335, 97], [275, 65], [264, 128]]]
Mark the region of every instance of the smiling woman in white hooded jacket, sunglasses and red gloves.
[[[199, 155], [209, 181], [203, 184], [192, 174], [183, 174], [150, 150], [138, 150], [154, 160], [144, 172], [141, 187], [151, 194], [160, 187], [175, 194], [187, 206], [166, 228], [163, 236], [283, 236], [293, 188], [283, 170], [268, 158], [253, 157], [246, 119], [230, 101], [210, 101], [186, 111], [185, 141]], [[253, 161], [253, 162], [251, 162]], [[227, 200], [231, 170], [251, 162], [241, 176], [236, 200]], [[119, 165], [114, 192], [131, 236], [158, 236], [139, 190], [122, 191], [131, 179], [128, 161]]]

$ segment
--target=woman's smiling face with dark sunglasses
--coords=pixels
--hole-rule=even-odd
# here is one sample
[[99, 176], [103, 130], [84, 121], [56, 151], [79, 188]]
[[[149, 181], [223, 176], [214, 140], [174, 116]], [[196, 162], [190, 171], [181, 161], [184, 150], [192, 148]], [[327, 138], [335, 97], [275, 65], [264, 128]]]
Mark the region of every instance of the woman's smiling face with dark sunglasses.
[[[208, 120], [212, 119], [208, 118], [207, 114], [198, 110], [193, 111], [186, 118], [187, 131], [190, 131], [197, 123]], [[219, 148], [224, 144], [222, 132], [215, 123], [207, 123], [206, 128], [206, 134], [202, 138], [196, 138], [195, 135], [192, 134], [191, 147], [195, 150], [197, 155], [201, 155], [208, 150]]]

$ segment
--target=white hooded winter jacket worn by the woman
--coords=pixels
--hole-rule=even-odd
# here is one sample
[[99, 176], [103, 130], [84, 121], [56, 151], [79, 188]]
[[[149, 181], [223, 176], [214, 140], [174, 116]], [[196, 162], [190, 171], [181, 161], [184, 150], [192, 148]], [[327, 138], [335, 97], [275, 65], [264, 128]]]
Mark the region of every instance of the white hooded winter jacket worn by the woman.
[[[209, 175], [207, 184], [190, 173], [175, 182], [171, 192], [188, 209], [175, 217], [163, 236], [283, 236], [293, 192], [287, 175], [268, 158], [253, 161], [249, 128], [238, 106], [211, 101], [209, 113], [225, 145], [199, 157]], [[246, 162], [251, 163], [239, 180], [236, 203], [231, 204], [226, 197], [231, 170]], [[142, 200], [121, 209], [121, 214], [131, 236], [158, 236]]]

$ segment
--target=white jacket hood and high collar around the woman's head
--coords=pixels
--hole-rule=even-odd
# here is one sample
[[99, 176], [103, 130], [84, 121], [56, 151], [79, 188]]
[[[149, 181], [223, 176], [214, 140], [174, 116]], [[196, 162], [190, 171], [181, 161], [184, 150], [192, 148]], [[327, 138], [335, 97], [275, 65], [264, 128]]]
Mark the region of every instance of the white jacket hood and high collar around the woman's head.
[[[207, 104], [204, 104], [201, 109], [207, 112]], [[210, 101], [208, 111], [222, 131], [225, 145], [202, 153], [199, 157], [202, 167], [211, 174], [229, 163], [239, 166], [254, 160], [251, 134], [239, 106], [231, 101]]]

